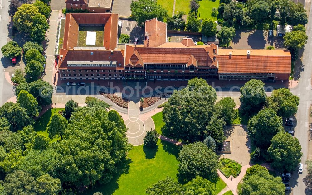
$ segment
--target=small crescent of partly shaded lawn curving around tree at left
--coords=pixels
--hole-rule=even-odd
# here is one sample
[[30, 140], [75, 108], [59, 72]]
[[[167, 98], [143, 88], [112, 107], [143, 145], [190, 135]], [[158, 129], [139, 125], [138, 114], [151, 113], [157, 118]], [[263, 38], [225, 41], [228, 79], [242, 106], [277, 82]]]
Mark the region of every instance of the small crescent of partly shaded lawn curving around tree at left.
[[[36, 123], [34, 125], [35, 131], [37, 131], [38, 134], [44, 135], [49, 139], [48, 132], [46, 131], [46, 126], [48, 125], [52, 114], [58, 113], [61, 110], [64, 110], [64, 108], [51, 108], [47, 110], [41, 117], [36, 120]], [[59, 139], [60, 138], [54, 138], [51, 140], [51, 142], [55, 142]]]

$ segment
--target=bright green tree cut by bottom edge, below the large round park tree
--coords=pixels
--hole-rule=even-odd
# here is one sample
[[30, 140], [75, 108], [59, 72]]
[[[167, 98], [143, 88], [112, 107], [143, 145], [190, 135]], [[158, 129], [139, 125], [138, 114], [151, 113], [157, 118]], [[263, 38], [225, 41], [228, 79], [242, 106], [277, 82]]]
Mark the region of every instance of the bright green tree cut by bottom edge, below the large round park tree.
[[217, 194], [216, 185], [200, 176], [196, 176], [194, 179], [184, 184], [183, 188], [186, 194]]

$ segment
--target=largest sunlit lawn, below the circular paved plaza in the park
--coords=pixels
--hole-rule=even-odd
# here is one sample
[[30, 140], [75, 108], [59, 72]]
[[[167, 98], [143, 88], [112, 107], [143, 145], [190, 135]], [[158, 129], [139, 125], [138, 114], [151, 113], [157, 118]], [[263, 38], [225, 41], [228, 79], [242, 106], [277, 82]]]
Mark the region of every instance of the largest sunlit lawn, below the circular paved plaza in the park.
[[117, 176], [105, 185], [86, 190], [85, 195], [102, 192], [104, 195], [141, 195], [145, 189], [160, 179], [170, 176], [176, 179], [178, 173], [178, 152], [180, 148], [158, 140], [158, 151], [146, 149], [143, 145], [129, 151], [128, 162], [119, 168]]

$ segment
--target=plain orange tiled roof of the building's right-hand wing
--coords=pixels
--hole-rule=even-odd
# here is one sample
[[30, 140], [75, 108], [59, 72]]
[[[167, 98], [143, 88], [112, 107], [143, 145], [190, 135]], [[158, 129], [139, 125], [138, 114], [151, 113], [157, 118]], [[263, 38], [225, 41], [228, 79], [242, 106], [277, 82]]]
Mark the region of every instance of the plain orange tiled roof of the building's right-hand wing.
[[[288, 50], [223, 50], [217, 57], [219, 73], [290, 73]], [[231, 56], [229, 53], [231, 52]]]

